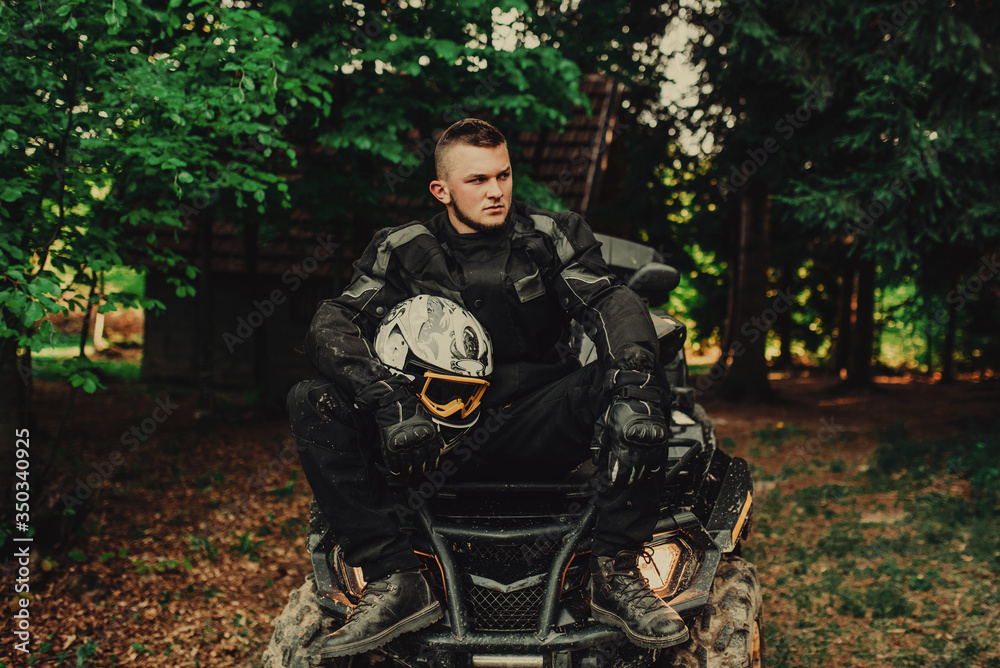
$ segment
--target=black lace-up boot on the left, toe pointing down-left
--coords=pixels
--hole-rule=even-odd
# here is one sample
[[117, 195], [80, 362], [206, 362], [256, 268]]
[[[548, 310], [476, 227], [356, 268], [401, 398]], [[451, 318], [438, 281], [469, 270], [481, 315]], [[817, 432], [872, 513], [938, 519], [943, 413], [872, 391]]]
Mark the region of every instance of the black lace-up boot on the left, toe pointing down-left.
[[369, 582], [347, 623], [323, 640], [324, 659], [360, 654], [441, 619], [441, 604], [420, 571]]

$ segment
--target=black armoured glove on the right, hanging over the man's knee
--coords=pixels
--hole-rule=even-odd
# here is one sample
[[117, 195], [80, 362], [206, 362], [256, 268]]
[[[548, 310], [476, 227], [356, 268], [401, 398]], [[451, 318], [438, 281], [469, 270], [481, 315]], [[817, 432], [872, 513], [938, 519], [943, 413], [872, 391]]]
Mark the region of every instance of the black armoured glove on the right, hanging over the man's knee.
[[594, 463], [611, 476], [612, 487], [627, 487], [666, 462], [663, 390], [648, 373], [614, 370], [604, 376], [604, 391], [611, 403], [597, 418], [590, 448]]

